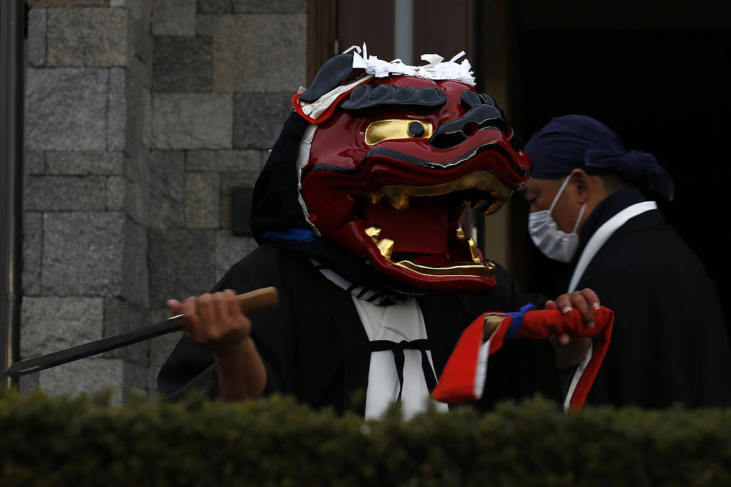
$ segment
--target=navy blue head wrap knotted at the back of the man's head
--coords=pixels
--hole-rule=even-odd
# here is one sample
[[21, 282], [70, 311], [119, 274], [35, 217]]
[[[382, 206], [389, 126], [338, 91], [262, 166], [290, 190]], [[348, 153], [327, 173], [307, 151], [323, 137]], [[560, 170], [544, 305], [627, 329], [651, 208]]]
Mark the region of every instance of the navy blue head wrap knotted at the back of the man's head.
[[574, 169], [591, 175], [618, 175], [641, 191], [673, 199], [673, 179], [652, 154], [624, 149], [609, 127], [585, 115], [553, 118], [523, 151], [533, 161], [533, 177], [557, 179]]

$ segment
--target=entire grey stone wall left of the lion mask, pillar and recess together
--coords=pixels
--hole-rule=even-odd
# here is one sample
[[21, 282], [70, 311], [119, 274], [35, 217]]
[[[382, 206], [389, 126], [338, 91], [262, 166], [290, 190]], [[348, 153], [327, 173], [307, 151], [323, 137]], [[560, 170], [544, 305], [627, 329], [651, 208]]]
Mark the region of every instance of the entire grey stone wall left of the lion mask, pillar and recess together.
[[[253, 185], [304, 85], [306, 0], [31, 0], [21, 358], [167, 317], [254, 248]], [[26, 376], [156, 393], [171, 335]]]

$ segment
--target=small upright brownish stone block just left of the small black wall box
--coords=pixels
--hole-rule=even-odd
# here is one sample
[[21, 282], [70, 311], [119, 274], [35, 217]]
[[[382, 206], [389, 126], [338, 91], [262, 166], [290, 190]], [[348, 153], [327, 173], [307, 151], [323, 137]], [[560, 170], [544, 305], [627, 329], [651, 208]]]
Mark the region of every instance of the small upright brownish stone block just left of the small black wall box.
[[219, 185], [216, 172], [186, 173], [185, 221], [189, 229], [219, 228]]

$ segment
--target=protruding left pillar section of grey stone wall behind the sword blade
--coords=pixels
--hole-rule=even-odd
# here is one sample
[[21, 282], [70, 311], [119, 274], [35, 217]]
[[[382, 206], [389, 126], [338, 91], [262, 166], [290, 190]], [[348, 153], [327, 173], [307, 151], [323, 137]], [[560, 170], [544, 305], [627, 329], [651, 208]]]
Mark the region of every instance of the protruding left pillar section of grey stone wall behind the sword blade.
[[[29, 358], [149, 321], [151, 13], [145, 0], [31, 0], [23, 303]], [[149, 344], [23, 377], [51, 394], [147, 391]]]

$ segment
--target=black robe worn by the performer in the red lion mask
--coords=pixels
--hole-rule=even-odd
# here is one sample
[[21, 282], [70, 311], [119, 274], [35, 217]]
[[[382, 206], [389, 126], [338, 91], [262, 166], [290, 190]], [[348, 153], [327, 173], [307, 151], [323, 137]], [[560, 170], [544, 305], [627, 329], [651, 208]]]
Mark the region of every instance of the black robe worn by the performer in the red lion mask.
[[[437, 377], [463, 329], [482, 312], [516, 311], [529, 301], [542, 307], [545, 302], [542, 296], [520, 294], [503, 269], [497, 273], [498, 286], [485, 294], [418, 298]], [[279, 307], [251, 316], [252, 336], [267, 368], [265, 392], [293, 394], [313, 407], [362, 413], [365, 403], [354, 404], [352, 398], [366, 391], [371, 350], [350, 294], [307, 258], [274, 244], [262, 245], [232, 266], [214, 290], [243, 293], [270, 285], [279, 290]], [[158, 385], [173, 398], [192, 389], [215, 395], [212, 354], [183, 337], [162, 367]], [[559, 389], [548, 341], [510, 340], [490, 358], [480, 407], [536, 393], [559, 399]]]

